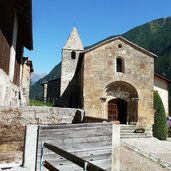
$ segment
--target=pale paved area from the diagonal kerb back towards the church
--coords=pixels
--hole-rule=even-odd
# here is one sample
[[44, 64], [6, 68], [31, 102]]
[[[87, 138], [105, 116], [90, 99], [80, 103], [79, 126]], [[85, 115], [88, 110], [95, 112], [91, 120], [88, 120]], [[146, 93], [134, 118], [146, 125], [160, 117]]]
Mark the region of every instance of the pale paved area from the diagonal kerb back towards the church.
[[155, 162], [161, 169], [171, 170], [171, 139], [160, 141], [156, 138], [127, 138], [121, 139], [121, 142], [128, 149]]

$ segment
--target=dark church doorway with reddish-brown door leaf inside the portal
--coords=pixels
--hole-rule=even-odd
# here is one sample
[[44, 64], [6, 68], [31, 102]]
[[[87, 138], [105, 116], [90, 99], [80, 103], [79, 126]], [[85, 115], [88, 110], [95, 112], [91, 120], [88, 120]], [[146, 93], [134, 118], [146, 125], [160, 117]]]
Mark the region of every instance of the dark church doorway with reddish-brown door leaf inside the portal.
[[122, 99], [112, 99], [108, 102], [108, 119], [127, 123], [127, 102]]

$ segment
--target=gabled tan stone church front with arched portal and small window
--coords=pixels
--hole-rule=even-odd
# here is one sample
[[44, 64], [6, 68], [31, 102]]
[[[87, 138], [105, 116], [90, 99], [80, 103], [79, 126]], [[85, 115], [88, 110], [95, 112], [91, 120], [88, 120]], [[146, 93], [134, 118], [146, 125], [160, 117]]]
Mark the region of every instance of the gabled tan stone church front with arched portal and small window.
[[85, 51], [85, 110], [121, 124], [138, 120], [151, 124], [154, 58], [155, 55], [122, 37]]

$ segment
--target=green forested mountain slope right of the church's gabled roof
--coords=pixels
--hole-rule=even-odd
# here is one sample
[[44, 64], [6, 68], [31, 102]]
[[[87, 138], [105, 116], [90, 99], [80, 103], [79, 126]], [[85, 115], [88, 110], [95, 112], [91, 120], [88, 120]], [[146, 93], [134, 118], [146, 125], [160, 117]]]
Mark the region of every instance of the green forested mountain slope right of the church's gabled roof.
[[171, 79], [171, 17], [146, 23], [122, 36], [157, 54], [155, 72]]

